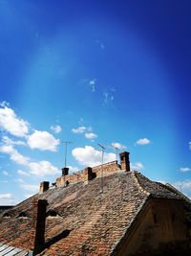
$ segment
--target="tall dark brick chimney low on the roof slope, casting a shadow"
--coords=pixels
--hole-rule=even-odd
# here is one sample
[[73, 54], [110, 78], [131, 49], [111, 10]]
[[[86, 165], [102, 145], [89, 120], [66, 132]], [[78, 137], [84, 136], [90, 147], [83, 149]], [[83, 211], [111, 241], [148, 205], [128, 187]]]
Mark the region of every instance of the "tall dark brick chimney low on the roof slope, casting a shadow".
[[32, 222], [31, 222], [31, 250], [32, 255], [38, 254], [45, 245], [45, 225], [47, 200], [33, 198], [32, 200]]

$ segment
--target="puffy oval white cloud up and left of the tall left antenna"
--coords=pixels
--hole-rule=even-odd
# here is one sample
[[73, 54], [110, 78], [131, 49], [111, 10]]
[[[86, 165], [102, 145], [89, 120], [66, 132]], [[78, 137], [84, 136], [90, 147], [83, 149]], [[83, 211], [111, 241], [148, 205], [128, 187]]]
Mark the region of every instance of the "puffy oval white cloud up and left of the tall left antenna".
[[28, 136], [28, 144], [31, 149], [40, 151], [56, 151], [60, 141], [47, 131], [35, 130]]

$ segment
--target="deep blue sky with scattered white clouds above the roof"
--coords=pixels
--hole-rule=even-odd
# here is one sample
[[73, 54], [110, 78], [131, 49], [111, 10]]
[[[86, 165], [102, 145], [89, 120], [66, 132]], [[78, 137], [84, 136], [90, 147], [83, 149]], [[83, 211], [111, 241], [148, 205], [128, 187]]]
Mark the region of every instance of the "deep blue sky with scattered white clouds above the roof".
[[191, 197], [190, 1], [0, 0], [0, 204], [130, 151]]

